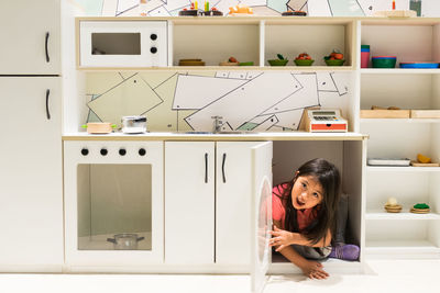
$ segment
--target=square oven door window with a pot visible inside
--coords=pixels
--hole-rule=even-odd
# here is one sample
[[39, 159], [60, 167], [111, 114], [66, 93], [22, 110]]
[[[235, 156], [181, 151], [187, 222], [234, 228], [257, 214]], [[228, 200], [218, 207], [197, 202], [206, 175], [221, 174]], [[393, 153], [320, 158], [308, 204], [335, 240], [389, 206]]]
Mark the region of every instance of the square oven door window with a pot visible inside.
[[78, 165], [78, 249], [152, 250], [152, 165]]

